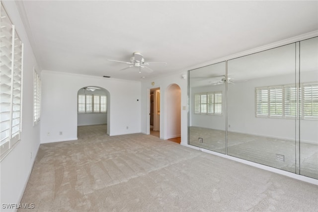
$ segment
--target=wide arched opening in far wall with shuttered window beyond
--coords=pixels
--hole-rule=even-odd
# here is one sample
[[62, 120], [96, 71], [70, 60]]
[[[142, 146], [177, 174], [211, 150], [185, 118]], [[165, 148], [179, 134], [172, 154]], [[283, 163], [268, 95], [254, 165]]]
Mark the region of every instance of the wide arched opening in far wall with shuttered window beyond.
[[78, 128], [97, 126], [109, 135], [110, 95], [99, 86], [85, 86], [78, 90]]

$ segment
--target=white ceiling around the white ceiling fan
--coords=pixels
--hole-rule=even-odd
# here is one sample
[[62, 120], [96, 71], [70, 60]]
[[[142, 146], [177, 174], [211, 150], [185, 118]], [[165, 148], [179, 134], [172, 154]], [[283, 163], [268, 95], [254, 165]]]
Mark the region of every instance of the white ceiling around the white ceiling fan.
[[[95, 76], [187, 71], [318, 30], [318, 1], [19, 1], [40, 67]], [[22, 8], [22, 9], [21, 9]], [[153, 73], [119, 71], [141, 52]]]

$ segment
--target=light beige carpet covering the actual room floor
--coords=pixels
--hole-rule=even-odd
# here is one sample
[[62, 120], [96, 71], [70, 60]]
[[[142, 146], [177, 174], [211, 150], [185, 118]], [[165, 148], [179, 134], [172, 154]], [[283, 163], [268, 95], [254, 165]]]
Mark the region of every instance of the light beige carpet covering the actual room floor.
[[154, 136], [41, 144], [21, 203], [36, 212], [314, 212], [318, 186]]

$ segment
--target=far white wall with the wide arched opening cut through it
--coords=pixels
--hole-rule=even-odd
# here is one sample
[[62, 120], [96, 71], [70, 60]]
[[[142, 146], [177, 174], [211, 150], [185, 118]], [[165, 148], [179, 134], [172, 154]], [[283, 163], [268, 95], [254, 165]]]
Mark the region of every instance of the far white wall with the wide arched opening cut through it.
[[42, 83], [41, 143], [77, 140], [78, 91], [91, 85], [109, 92], [107, 133], [110, 136], [141, 131], [140, 82], [43, 71]]

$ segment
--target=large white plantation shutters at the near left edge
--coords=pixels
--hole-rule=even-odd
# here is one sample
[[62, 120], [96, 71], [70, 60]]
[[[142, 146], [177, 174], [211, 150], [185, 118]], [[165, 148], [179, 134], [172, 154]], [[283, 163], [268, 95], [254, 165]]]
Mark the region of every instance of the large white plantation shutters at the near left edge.
[[0, 157], [19, 141], [21, 132], [23, 44], [0, 4]]

